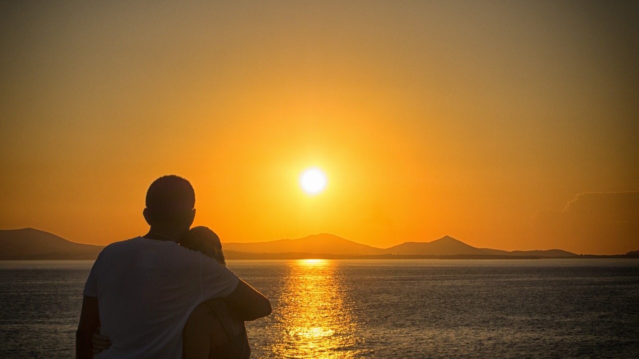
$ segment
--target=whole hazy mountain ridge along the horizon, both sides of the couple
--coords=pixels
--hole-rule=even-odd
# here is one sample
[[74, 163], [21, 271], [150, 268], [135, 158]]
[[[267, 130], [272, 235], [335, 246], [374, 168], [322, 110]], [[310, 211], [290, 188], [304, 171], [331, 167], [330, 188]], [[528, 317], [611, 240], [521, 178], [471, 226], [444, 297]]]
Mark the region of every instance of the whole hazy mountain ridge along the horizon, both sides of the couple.
[[[389, 248], [377, 248], [355, 241], [346, 240], [335, 234], [311, 234], [304, 238], [272, 241], [222, 243], [227, 258], [289, 259], [298, 257], [323, 256], [332, 258], [493, 258], [493, 257], [597, 257], [576, 255], [560, 249], [506, 251], [491, 248], [477, 248], [443, 236], [429, 242], [407, 241]], [[65, 240], [55, 234], [33, 228], [0, 230], [0, 259], [95, 259], [104, 246], [87, 245]], [[617, 256], [636, 256], [639, 251], [631, 251]], [[610, 256], [606, 256], [610, 257]], [[615, 257], [615, 256], [613, 256]]]

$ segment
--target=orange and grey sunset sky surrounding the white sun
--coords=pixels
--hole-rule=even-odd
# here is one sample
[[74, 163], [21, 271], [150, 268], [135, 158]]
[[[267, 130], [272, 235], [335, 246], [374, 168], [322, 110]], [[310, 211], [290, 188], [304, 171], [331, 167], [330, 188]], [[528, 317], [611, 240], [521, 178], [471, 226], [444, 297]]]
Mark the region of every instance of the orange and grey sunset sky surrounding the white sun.
[[[4, 1], [0, 229], [639, 250], [634, 1]], [[327, 176], [300, 188], [309, 167]]]

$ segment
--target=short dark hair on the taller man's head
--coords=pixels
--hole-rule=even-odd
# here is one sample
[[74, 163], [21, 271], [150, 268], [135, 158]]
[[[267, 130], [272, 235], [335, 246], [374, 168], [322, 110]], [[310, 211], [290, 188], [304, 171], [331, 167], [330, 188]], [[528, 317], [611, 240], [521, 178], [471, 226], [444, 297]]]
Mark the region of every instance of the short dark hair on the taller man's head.
[[191, 183], [174, 174], [156, 179], [146, 191], [146, 208], [154, 217], [179, 217], [192, 210], [195, 204], [196, 193]]

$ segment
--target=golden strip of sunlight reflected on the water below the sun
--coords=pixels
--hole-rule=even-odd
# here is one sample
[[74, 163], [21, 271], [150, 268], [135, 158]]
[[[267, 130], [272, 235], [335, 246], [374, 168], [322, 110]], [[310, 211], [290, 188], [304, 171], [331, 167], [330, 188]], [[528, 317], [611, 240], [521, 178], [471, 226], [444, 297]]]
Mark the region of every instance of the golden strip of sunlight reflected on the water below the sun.
[[291, 263], [275, 323], [275, 358], [354, 358], [362, 341], [354, 335], [355, 314], [348, 291], [332, 261]]

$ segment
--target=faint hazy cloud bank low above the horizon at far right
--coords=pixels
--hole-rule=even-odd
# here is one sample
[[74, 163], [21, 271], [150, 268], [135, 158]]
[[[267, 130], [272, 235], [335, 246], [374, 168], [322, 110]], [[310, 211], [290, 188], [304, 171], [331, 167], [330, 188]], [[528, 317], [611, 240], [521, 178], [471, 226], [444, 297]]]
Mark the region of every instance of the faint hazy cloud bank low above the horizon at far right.
[[583, 254], [623, 254], [639, 249], [639, 191], [585, 192], [562, 211], [540, 211], [534, 238], [546, 248]]

